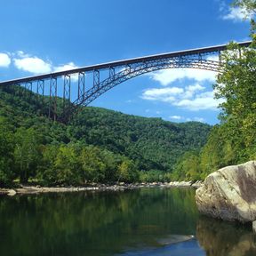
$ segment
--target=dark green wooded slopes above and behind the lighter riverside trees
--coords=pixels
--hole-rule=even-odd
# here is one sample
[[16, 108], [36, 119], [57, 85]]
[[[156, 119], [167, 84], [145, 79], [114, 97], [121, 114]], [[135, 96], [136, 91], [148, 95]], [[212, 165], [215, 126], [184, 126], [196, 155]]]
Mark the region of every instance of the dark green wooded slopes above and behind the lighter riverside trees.
[[[58, 151], [61, 147], [74, 148], [76, 146], [76, 150], [74, 150], [76, 154], [78, 154], [77, 150], [83, 151], [83, 148], [86, 147], [96, 147], [100, 150], [97, 153], [100, 154], [100, 156], [105, 150], [104, 152], [108, 152], [110, 155], [112, 154], [111, 157], [118, 156], [118, 159], [125, 157], [125, 161], [132, 161], [131, 163], [134, 164], [134, 168], [138, 171], [157, 170], [172, 172], [173, 165], [180, 156], [187, 151], [199, 150], [204, 146], [208, 133], [211, 130], [210, 125], [198, 122], [175, 124], [164, 121], [161, 118], [130, 116], [104, 108], [92, 107], [83, 108], [70, 124], [60, 124], [58, 122], [52, 122], [52, 120], [45, 116], [48, 111], [47, 104], [45, 103], [47, 98], [44, 99], [44, 105], [42, 105], [42, 99], [40, 97], [39, 102], [41, 100], [41, 103], [36, 101], [36, 94], [32, 94], [31, 97], [28, 97], [25, 93], [23, 97], [19, 97], [15, 96], [12, 88], [1, 88], [0, 90], [0, 121], [2, 120], [0, 125], [2, 125], [2, 130], [4, 131], [4, 127], [8, 126], [8, 132], [12, 132], [13, 138], [15, 138], [15, 136], [17, 137], [20, 133], [21, 135], [18, 136], [21, 138], [19, 139], [20, 141], [23, 141], [26, 137], [25, 135], [32, 131], [32, 135], [27, 135], [29, 138], [35, 137], [36, 142], [34, 141], [33, 143], [38, 144], [39, 149], [36, 150], [43, 159], [47, 148], [57, 147], [57, 149], [55, 149]], [[27, 133], [24, 131], [27, 131]], [[21, 144], [28, 143], [28, 141], [22, 141], [20, 142]], [[11, 155], [14, 158], [12, 163], [17, 164], [19, 161], [17, 160], [18, 156], [15, 156], [15, 154], [17, 155], [15, 152], [18, 150], [17, 147], [19, 145], [15, 144], [14, 141], [10, 143], [13, 146], [11, 147], [13, 151]], [[68, 156], [71, 155], [72, 154], [69, 154]], [[75, 158], [79, 158], [78, 155]], [[54, 162], [54, 159], [57, 159], [58, 156], [58, 154], [51, 156], [51, 161]], [[63, 160], [61, 159], [60, 162]], [[81, 165], [81, 161], [78, 165]], [[4, 160], [2, 162], [4, 163]], [[45, 164], [43, 164], [44, 168], [41, 166], [42, 163], [40, 165], [41, 167], [37, 166], [36, 163], [30, 164], [30, 166], [34, 166], [36, 170], [40, 167], [39, 169], [41, 171], [44, 170], [42, 172], [46, 172], [45, 170], [51, 167], [50, 162], [48, 165], [46, 164], [48, 167], [45, 167]], [[53, 162], [51, 162], [52, 165], [55, 163]], [[118, 166], [116, 168], [120, 169], [121, 167]], [[16, 167], [13, 169], [20, 170], [20, 168], [23, 168], [20, 165]], [[12, 169], [12, 166], [10, 168]], [[58, 169], [59, 167], [57, 166], [56, 168]], [[94, 167], [94, 169], [95, 168], [97, 169], [99, 166]], [[14, 170], [13, 172], [17, 175], [17, 173], [20, 172], [19, 170]], [[30, 174], [26, 175], [31, 176], [31, 172], [28, 173]], [[33, 175], [37, 174], [34, 172]], [[26, 179], [28, 179], [28, 177]]]

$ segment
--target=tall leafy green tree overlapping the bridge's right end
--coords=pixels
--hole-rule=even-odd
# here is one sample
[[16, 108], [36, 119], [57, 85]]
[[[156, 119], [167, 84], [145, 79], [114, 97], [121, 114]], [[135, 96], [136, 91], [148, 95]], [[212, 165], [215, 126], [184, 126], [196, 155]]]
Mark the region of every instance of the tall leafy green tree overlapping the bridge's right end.
[[253, 148], [256, 138], [255, 48], [253, 44], [246, 49], [229, 44], [228, 51], [221, 58], [224, 64], [214, 86], [216, 98], [225, 99], [220, 105], [221, 121], [227, 131], [239, 131], [238, 136], [243, 138], [246, 148]]

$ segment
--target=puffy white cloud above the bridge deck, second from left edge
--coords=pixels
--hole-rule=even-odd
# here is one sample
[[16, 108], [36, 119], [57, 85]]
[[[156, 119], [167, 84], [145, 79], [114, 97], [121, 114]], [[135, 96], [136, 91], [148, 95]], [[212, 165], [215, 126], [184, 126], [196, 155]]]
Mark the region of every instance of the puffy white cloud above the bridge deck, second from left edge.
[[36, 75], [50, 73], [52, 71], [52, 64], [38, 57], [24, 57], [22, 59], [13, 60], [16, 68]]

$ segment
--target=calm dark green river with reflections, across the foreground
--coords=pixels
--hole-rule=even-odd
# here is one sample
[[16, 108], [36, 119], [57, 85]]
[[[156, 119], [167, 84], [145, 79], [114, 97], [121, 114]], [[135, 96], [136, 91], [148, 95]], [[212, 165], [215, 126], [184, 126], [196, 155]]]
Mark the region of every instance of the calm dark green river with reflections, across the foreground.
[[200, 216], [194, 196], [191, 188], [0, 196], [0, 255], [256, 255], [250, 227]]

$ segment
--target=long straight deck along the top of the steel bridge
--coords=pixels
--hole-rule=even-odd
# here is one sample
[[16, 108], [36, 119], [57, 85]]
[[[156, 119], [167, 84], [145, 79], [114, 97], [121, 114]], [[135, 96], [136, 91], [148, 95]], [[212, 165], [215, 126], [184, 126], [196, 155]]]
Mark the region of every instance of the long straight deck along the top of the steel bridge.
[[[241, 42], [238, 44], [240, 46], [246, 47], [246, 46], [250, 45], [251, 43], [252, 43], [252, 41], [246, 41], [246, 42]], [[144, 57], [139, 57], [139, 58], [134, 58], [134, 59], [117, 60], [117, 61], [97, 64], [97, 65], [92, 65], [92, 66], [86, 66], [86, 67], [82, 67], [82, 68], [74, 68], [74, 69], [53, 72], [53, 73], [48, 73], [48, 74], [39, 75], [39, 76], [28, 76], [28, 77], [23, 77], [23, 78], [19, 78], [19, 79], [3, 81], [3, 82], [0, 82], [0, 85], [22, 84], [22, 83], [28, 83], [31, 81], [35, 81], [35, 80], [50, 79], [52, 77], [60, 77], [60, 76], [72, 75], [72, 74], [77, 74], [77, 73], [82, 73], [82, 72], [90, 72], [93, 70], [102, 70], [105, 68], [116, 68], [116, 67], [122, 68], [123, 66], [129, 65], [129, 64], [148, 62], [150, 60], [161, 60], [161, 59], [165, 59], [165, 58], [175, 58], [175, 57], [182, 57], [182, 56], [189, 56], [189, 55], [191, 56], [194, 54], [206, 54], [206, 53], [210, 54], [213, 52], [221, 52], [226, 49], [227, 49], [227, 44], [221, 44], [221, 45], [215, 45], [215, 46], [211, 46], [211, 47], [197, 48], [197, 49], [191, 49], [191, 50], [180, 51], [180, 52], [167, 52], [167, 53], [149, 55], [149, 56], [144, 56]]]

